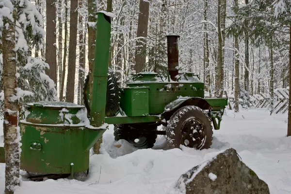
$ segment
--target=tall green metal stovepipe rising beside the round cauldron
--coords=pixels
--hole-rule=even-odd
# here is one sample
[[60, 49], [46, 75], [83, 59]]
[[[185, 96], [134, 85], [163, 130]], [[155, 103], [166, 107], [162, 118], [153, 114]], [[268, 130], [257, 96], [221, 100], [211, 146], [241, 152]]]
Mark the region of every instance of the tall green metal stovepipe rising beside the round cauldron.
[[93, 91], [90, 112], [90, 123], [95, 127], [101, 126], [105, 118], [110, 36], [110, 17], [100, 12], [97, 13]]

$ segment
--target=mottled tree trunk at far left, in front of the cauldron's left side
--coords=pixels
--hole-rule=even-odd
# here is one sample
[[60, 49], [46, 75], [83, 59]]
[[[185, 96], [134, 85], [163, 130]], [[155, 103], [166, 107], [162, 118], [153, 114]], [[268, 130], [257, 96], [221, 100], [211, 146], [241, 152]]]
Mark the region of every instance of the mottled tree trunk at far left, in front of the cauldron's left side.
[[[16, 5], [14, 5], [16, 6]], [[3, 51], [3, 89], [4, 89], [4, 149], [5, 149], [5, 194], [14, 194], [15, 187], [19, 185], [19, 127], [17, 126], [18, 100], [11, 100], [16, 96], [16, 52], [15, 48], [15, 26], [16, 9], [13, 11], [12, 22], [3, 17], [2, 28], [2, 51]]]

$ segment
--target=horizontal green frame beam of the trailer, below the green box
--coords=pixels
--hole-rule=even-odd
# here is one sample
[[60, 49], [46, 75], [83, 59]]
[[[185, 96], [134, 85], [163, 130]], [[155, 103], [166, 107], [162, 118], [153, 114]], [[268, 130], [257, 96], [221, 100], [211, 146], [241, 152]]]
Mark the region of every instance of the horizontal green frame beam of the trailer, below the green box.
[[108, 124], [127, 124], [127, 123], [142, 123], [161, 121], [162, 116], [150, 115], [141, 117], [105, 117], [105, 122]]

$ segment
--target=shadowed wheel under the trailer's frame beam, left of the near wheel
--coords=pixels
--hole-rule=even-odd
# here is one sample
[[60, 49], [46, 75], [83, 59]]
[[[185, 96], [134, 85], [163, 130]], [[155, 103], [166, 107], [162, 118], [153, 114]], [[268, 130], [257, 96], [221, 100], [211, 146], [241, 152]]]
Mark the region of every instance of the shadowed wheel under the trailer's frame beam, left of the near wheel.
[[156, 126], [148, 127], [146, 126], [146, 123], [140, 126], [143, 127], [143, 129], [141, 129], [140, 127], [137, 129], [128, 124], [114, 125], [115, 141], [125, 139], [136, 148], [139, 149], [152, 148], [156, 142], [157, 134], [151, 133], [145, 134], [142, 132], [149, 132], [149, 130], [157, 130], [157, 127]]

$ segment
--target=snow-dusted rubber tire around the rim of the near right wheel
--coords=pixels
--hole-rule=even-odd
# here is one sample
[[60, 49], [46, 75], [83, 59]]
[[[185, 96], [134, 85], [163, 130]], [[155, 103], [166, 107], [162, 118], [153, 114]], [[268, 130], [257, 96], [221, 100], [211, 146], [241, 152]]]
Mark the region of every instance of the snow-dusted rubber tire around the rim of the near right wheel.
[[[197, 106], [183, 106], [178, 109], [168, 121], [166, 127], [166, 139], [169, 147], [171, 149], [180, 148], [180, 145], [184, 145], [181, 138], [181, 128], [183, 122], [190, 118], [196, 117], [200, 119], [204, 124], [204, 133], [206, 134], [206, 140], [204, 144], [198, 145], [195, 149], [209, 149], [212, 144], [212, 125], [211, 119], [207, 112], [203, 111], [201, 108]], [[205, 137], [204, 137], [205, 138]]]

